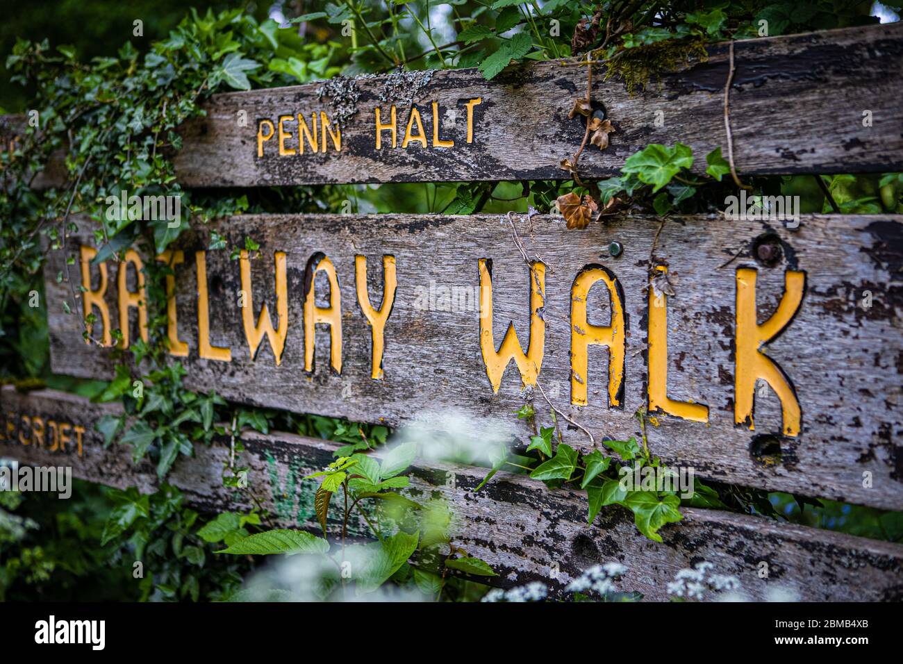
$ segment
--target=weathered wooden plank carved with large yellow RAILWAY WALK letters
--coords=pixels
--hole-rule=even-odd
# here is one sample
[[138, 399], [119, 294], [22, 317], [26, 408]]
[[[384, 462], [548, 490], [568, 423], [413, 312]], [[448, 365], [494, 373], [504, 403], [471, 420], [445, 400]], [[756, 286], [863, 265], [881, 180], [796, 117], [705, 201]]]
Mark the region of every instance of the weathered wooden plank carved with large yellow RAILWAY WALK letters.
[[[79, 245], [93, 243], [89, 222], [78, 223], [69, 248], [76, 265]], [[541, 257], [546, 266], [545, 303], [535, 301], [537, 307], [545, 304], [535, 315], [537, 338], [540, 331], [545, 333], [539, 385], [556, 407], [588, 427], [597, 444], [605, 435], [616, 439], [639, 435], [634, 413], [654, 400], [653, 405], [672, 413], [655, 408], [657, 426], [647, 427], [653, 454], [667, 463], [690, 466], [699, 476], [725, 482], [895, 510], [903, 506], [903, 454], [898, 443], [903, 371], [899, 216], [802, 216], [796, 229], [774, 221], [633, 216], [610, 218], [604, 225], [576, 232], [564, 229], [563, 220], [545, 216], [260, 215], [223, 220], [211, 228], [227, 238], [229, 247], [244, 246], [250, 237], [261, 249], [247, 260], [249, 286], [242, 284], [239, 261], [230, 260], [228, 251], [203, 255], [205, 282], [197, 278], [195, 252], [209, 247], [209, 229], [192, 229], [180, 240], [184, 262], [175, 267], [175, 303], [178, 340], [187, 344], [187, 356], [179, 360], [188, 369], [186, 384], [191, 388], [215, 388], [224, 397], [258, 406], [392, 426], [442, 422], [453, 412], [460, 416], [461, 426], [479, 432], [481, 439], [489, 431], [526, 438], [530, 428], [525, 421], [518, 422], [514, 412], [529, 393], [522, 394], [516, 364], [502, 363], [507, 369], [501, 379], [495, 377], [500, 386], [495, 393], [480, 341], [481, 321], [490, 319], [479, 313], [483, 278], [479, 265], [489, 258], [491, 277], [485, 281], [491, 284], [493, 336], [489, 341], [484, 335], [485, 356], [493, 364], [493, 351], [509, 322], [517, 328], [521, 347], [528, 345], [531, 280], [512, 238], [512, 229], [517, 229], [526, 254]], [[622, 244], [619, 257], [607, 255], [612, 240]], [[774, 267], [759, 259], [762, 242], [774, 244]], [[265, 336], [251, 359], [243, 325], [246, 313], [248, 323], [258, 320], [263, 302], [275, 327], [282, 324], [277, 322], [275, 252], [284, 252], [286, 275], [287, 330], [278, 365]], [[303, 313], [307, 284], [321, 255], [330, 259], [340, 285], [336, 291], [340, 325], [334, 322], [341, 343], [334, 356], [329, 325], [316, 325], [313, 335], [304, 332], [304, 321], [314, 320], [312, 314]], [[367, 258], [373, 307], [382, 302], [383, 257], [394, 257], [396, 264], [394, 304], [376, 367], [372, 328], [358, 303], [358, 256]], [[130, 339], [137, 339], [135, 308], [126, 309], [131, 324], [121, 324], [116, 304], [122, 266], [128, 290], [136, 290], [134, 267], [108, 263], [104, 302], [109, 327], [130, 329]], [[609, 269], [618, 281], [614, 290], [623, 303], [624, 323], [615, 328], [623, 332], [625, 351], [622, 362], [613, 364], [618, 369], [623, 363], [622, 380], [618, 376], [609, 380], [609, 352], [602, 346], [576, 352], [575, 357], [588, 355], [588, 368], [574, 365], [572, 378], [572, 342], [586, 338], [583, 332], [589, 325], [601, 328], [611, 320], [610, 291], [597, 283], [586, 298], [589, 323], [579, 317], [572, 322], [573, 284], [584, 267], [593, 265]], [[673, 295], [647, 295], [653, 266], [667, 266]], [[99, 287], [98, 269], [90, 267], [91, 283], [86, 285], [92, 289]], [[111, 378], [115, 360], [110, 351], [86, 344], [77, 315], [62, 309], [62, 301], [70, 297], [70, 286], [57, 283], [63, 270], [63, 253], [52, 252], [45, 287], [53, 370]], [[316, 315], [323, 319], [328, 317], [323, 311], [330, 287], [323, 270], [315, 274]], [[739, 289], [749, 293], [753, 276], [758, 276], [756, 299], [747, 298], [743, 311], [758, 302], [761, 330], [768, 327], [767, 320], [774, 326], [772, 315], [790, 323], [768, 342], [759, 358], [762, 369], [758, 373], [744, 369], [749, 382], [738, 390], [735, 313]], [[79, 279], [78, 267], [72, 278]], [[776, 311], [788, 283], [791, 291], [799, 290], [802, 301], [798, 309], [790, 303]], [[251, 294], [245, 310], [239, 307], [242, 290]], [[208, 306], [199, 306], [198, 294], [205, 291]], [[123, 302], [127, 304], [126, 294]], [[209, 310], [205, 341], [228, 348], [230, 361], [200, 357], [199, 310]], [[95, 306], [92, 311], [99, 319], [100, 309]], [[651, 336], [650, 315], [657, 331]], [[777, 334], [777, 327], [762, 338]], [[743, 329], [748, 330], [749, 324], [744, 323]], [[93, 331], [102, 341], [99, 322]], [[741, 361], [746, 367], [756, 357], [758, 344], [743, 334]], [[305, 358], [309, 340], [314, 341], [311, 361]], [[212, 355], [205, 351], [206, 358]], [[340, 366], [335, 357], [340, 357]], [[777, 371], [787, 379], [781, 379], [764, 357], [777, 362]], [[526, 359], [524, 364], [529, 364]], [[656, 367], [651, 377], [650, 364]], [[773, 372], [770, 378], [766, 369]], [[375, 370], [377, 375], [383, 372], [381, 378], [373, 378]], [[764, 376], [768, 384], [753, 382], [753, 374]], [[529, 375], [526, 379], [533, 380]], [[588, 405], [574, 405], [584, 386]], [[744, 402], [749, 402], [749, 411]], [[548, 408], [538, 394], [535, 404], [540, 422], [549, 424]], [[699, 404], [708, 407], [703, 417]], [[790, 412], [794, 404], [801, 411], [798, 431], [797, 418]], [[755, 429], [750, 430], [742, 423], [749, 422], [746, 415], [753, 406]], [[698, 421], [705, 418], [707, 422]], [[735, 425], [738, 419], [740, 426]], [[570, 444], [590, 445], [573, 427], [565, 436]]]

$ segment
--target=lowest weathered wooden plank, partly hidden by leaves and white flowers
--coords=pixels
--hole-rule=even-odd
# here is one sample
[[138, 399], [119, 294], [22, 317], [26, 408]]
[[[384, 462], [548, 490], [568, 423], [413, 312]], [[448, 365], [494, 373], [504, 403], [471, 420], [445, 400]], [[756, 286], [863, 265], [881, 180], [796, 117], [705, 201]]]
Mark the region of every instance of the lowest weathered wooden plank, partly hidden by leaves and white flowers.
[[[152, 491], [153, 466], [134, 466], [126, 446], [104, 450], [102, 436], [93, 428], [99, 416], [114, 410], [52, 390], [22, 395], [4, 388], [0, 412], [5, 422], [0, 433], [5, 439], [0, 440], [0, 456], [34, 465], [70, 463], [79, 478]], [[43, 447], [33, 444], [29, 427], [35, 416], [42, 424], [82, 426], [81, 457], [72, 447], [67, 454], [50, 452], [49, 438]], [[30, 444], [18, 442], [20, 433]], [[281, 525], [318, 528], [312, 504], [315, 482], [299, 478], [329, 463], [337, 445], [281, 433], [246, 432], [242, 439], [247, 446], [242, 462], [250, 467], [249, 490]], [[170, 477], [191, 503], [214, 511], [249, 508], [249, 499], [237, 499], [221, 485], [228, 440], [209, 448], [199, 445], [196, 454], [176, 463]], [[449, 473], [455, 478], [454, 488], [447, 482]], [[639, 591], [647, 600], [664, 600], [666, 584], [679, 569], [706, 560], [713, 564], [713, 572], [736, 576], [751, 599], [774, 599], [778, 590], [804, 601], [901, 599], [903, 547], [896, 544], [697, 509], [684, 509], [684, 520], [663, 528], [664, 541], [657, 544], [638, 534], [627, 510], [605, 508], [596, 524], [588, 526], [584, 496], [548, 490], [523, 476], [500, 472], [484, 490], [474, 492], [484, 473], [479, 468], [417, 461], [410, 473], [410, 493], [416, 500], [426, 495], [447, 500], [454, 514], [453, 543], [494, 566], [501, 585], [538, 580], [560, 592], [582, 570], [619, 562], [628, 566], [619, 589]], [[762, 562], [768, 564], [767, 578], [759, 577]], [[555, 566], [560, 570], [557, 575]]]

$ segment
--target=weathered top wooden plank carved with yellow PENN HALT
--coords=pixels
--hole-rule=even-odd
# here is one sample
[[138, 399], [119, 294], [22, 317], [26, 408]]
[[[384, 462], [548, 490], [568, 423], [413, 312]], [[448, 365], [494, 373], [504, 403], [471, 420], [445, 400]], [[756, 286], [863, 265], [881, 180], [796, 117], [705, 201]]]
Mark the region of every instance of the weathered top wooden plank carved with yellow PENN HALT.
[[[736, 42], [735, 62], [731, 127], [741, 173], [903, 170], [900, 23]], [[699, 171], [715, 147], [727, 154], [727, 43], [709, 47], [708, 61], [666, 74], [633, 97], [599, 69], [593, 100], [617, 131], [606, 151], [582, 154], [582, 177], [618, 173], [650, 143], [691, 145]], [[584, 67], [550, 61], [512, 67], [491, 81], [473, 69], [414, 71], [219, 94], [209, 100], [207, 117], [183, 127], [176, 172], [183, 185], [198, 187], [563, 180], [569, 175], [559, 164], [576, 152], [585, 126], [568, 113], [585, 89]], [[396, 109], [394, 147], [386, 129], [377, 149], [377, 107], [383, 124]], [[424, 140], [405, 144], [412, 108]], [[870, 126], [863, 126], [866, 111]], [[311, 133], [303, 154], [299, 114]], [[322, 131], [323, 117], [332, 132], [341, 122], [340, 149]], [[412, 136], [420, 135], [412, 122]], [[272, 137], [258, 147], [258, 134], [269, 136], [270, 126]]]

